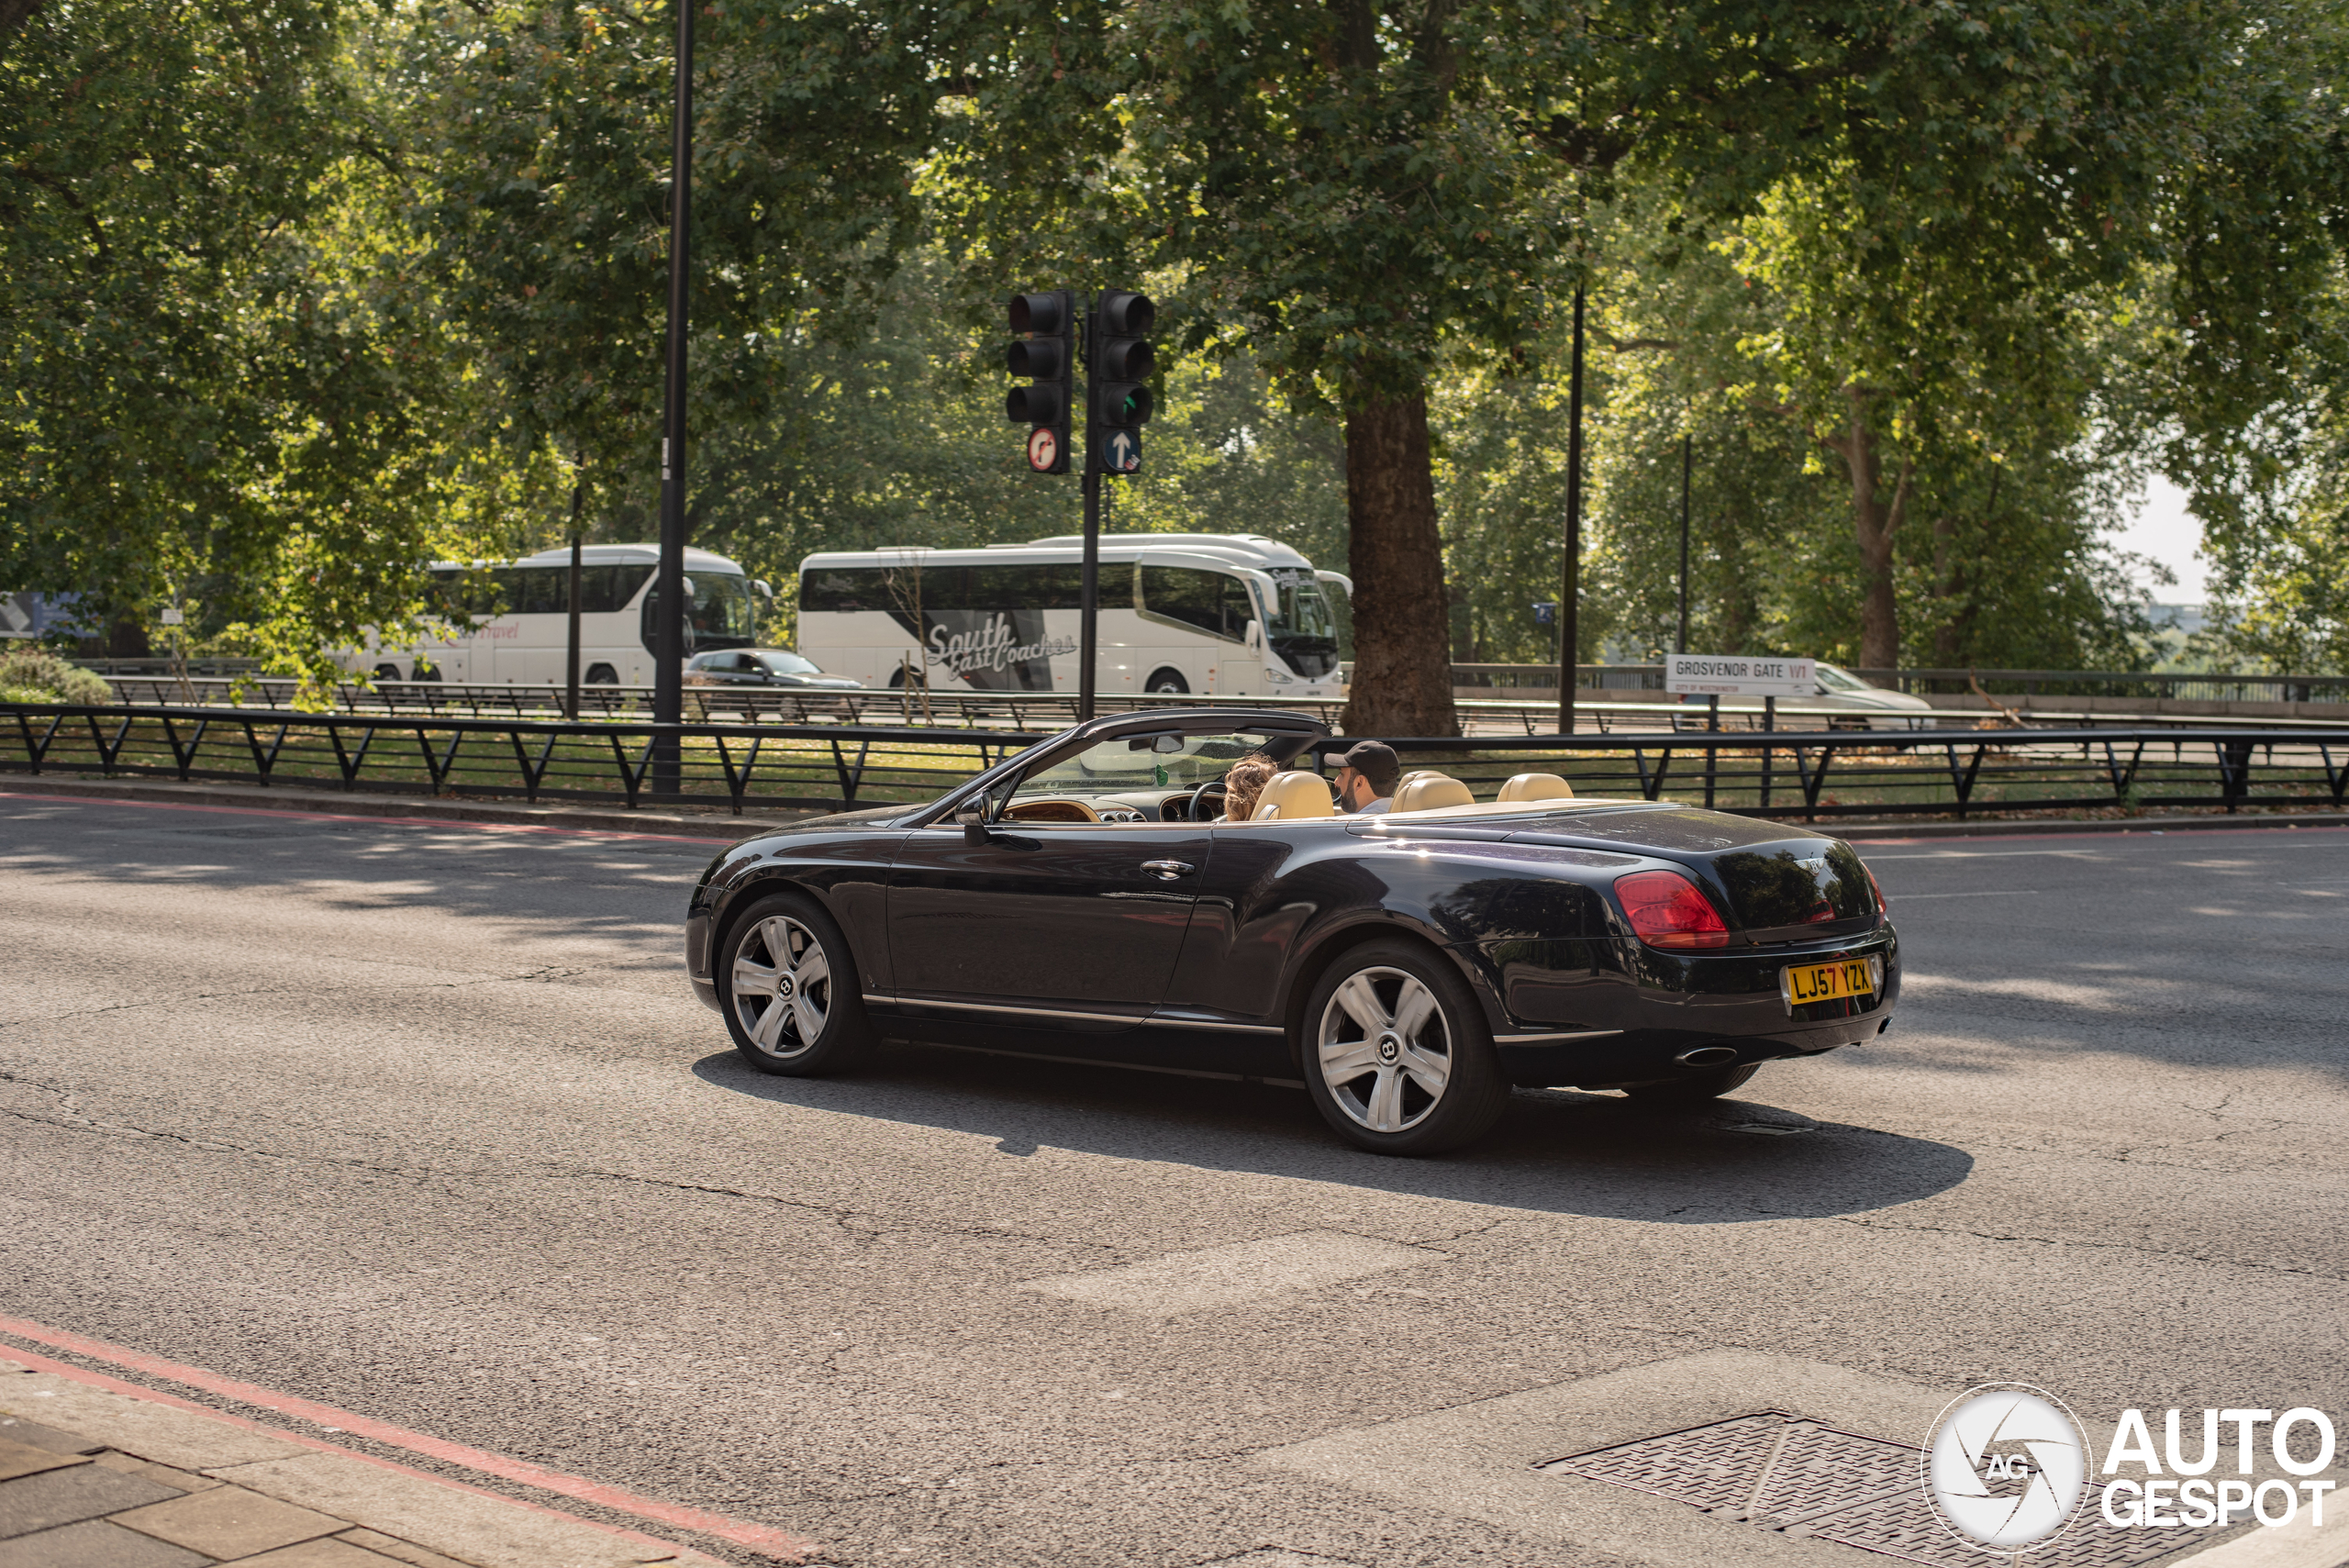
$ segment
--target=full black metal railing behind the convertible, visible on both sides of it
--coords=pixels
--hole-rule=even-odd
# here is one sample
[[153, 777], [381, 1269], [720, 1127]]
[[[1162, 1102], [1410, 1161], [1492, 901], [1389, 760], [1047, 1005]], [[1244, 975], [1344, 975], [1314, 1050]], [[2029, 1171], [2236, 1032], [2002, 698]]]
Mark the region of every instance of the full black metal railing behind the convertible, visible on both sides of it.
[[[848, 810], [930, 800], [1034, 730], [435, 718], [223, 707], [0, 704], [0, 770], [341, 791]], [[674, 742], [674, 768], [662, 761]], [[1322, 742], [1325, 761], [1351, 742]], [[1517, 772], [1579, 796], [1757, 817], [1976, 817], [2323, 807], [2349, 796], [2349, 735], [2194, 730], [1658, 730], [1393, 742], [1478, 800]]]

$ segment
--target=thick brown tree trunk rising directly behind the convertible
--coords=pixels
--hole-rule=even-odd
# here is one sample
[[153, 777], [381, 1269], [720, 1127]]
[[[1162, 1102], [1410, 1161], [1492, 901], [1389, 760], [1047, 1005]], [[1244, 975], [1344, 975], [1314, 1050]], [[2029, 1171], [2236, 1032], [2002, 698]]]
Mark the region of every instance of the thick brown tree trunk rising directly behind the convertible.
[[1459, 735], [1428, 397], [1346, 413], [1353, 688], [1346, 735]]

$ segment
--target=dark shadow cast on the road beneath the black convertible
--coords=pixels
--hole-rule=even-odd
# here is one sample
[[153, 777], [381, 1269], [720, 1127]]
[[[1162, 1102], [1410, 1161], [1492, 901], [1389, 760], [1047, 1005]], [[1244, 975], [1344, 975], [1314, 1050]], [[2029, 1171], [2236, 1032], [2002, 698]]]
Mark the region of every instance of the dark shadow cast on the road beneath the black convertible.
[[[1727, 1225], [1865, 1214], [1945, 1192], [1973, 1169], [1947, 1143], [1811, 1122], [1748, 1099], [1651, 1110], [1618, 1094], [1520, 1089], [1480, 1143], [1393, 1160], [1341, 1143], [1299, 1089], [1113, 1066], [890, 1045], [853, 1077], [773, 1077], [733, 1052], [695, 1077], [780, 1106], [1210, 1171], [1332, 1181], [1541, 1214]], [[1759, 1091], [1759, 1096], [1752, 1096]]]

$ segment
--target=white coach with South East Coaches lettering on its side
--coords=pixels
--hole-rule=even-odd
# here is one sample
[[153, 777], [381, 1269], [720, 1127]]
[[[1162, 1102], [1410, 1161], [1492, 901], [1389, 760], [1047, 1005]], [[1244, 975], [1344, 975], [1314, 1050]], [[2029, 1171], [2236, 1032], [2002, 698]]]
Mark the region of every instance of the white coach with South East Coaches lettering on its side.
[[[1102, 535], [1095, 690], [1339, 697], [1339, 573], [1254, 533]], [[867, 685], [1073, 692], [1083, 538], [824, 552], [799, 563], [799, 653]]]

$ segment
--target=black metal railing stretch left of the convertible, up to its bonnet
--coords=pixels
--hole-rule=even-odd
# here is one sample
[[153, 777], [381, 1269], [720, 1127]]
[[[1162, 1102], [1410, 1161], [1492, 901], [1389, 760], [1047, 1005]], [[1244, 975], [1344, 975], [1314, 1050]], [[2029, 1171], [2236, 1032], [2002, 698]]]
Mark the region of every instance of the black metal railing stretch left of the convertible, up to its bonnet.
[[[1038, 735], [5, 704], [0, 770], [369, 793], [850, 810], [928, 800]], [[662, 756], [674, 749], [674, 763]]]

